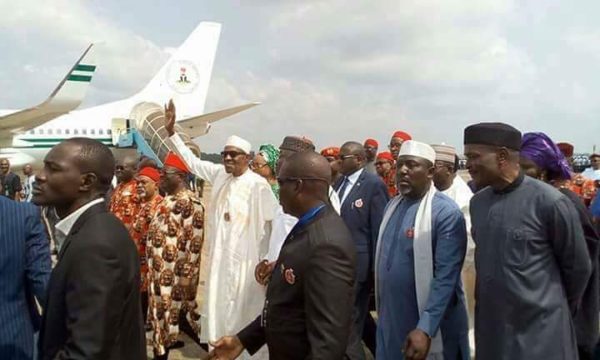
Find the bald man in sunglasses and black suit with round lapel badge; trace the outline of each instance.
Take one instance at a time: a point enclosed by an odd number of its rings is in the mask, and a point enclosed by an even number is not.
[[[237,336],[211,345],[211,359],[254,354],[271,360],[344,359],[352,327],[356,251],[344,221],[326,204],[331,168],[315,152],[283,162],[277,179],[283,210],[300,220],[286,238],[262,314]]]

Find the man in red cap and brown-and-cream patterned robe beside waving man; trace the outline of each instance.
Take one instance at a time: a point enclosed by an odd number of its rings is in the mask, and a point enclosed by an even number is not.
[[[150,336],[155,359],[167,359],[177,341],[180,313],[197,333],[200,314],[196,290],[204,242],[204,207],[188,188],[190,171],[169,153],[161,171],[166,196],[148,230]]]

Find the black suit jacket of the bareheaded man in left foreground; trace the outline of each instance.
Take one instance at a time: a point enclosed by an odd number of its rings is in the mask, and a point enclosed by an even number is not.
[[[146,359],[140,265],[125,226],[100,203],[77,219],[50,278],[42,359]]]

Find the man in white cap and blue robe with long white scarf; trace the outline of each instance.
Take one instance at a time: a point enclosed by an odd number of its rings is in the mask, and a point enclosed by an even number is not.
[[[460,274],[467,247],[458,205],[433,183],[435,151],[402,145],[398,190],[377,244],[377,359],[467,360],[468,324]]]

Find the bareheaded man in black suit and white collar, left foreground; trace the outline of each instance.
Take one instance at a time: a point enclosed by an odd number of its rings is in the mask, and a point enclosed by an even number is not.
[[[114,168],[108,147],[72,138],[50,150],[36,176],[33,202],[61,219],[41,359],[146,359],[137,251],[103,199]]]

